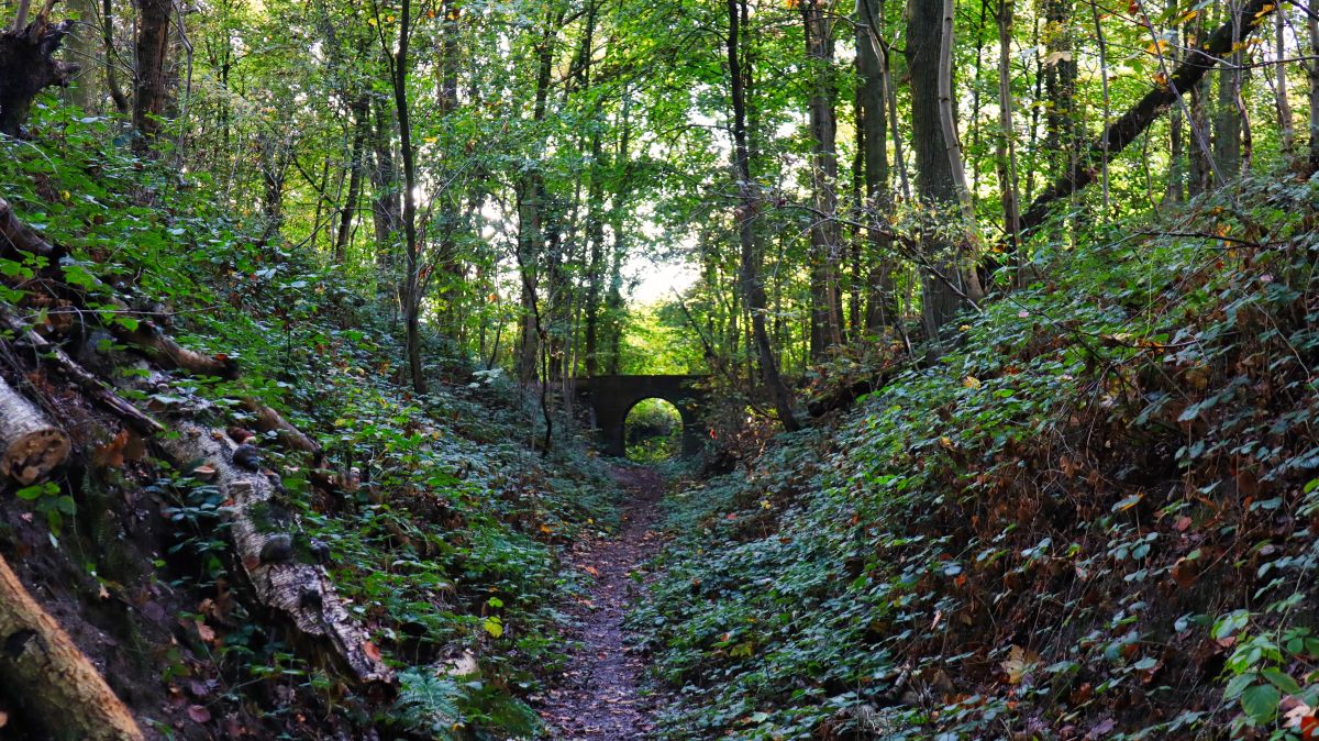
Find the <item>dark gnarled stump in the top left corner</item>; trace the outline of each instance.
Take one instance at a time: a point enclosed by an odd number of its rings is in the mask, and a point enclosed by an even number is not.
[[[0,133],[18,136],[32,102],[47,87],[65,87],[80,69],[55,59],[55,51],[74,28],[74,21],[50,22],[54,0],[26,26],[0,32]],[[26,7],[26,3],[22,4]]]

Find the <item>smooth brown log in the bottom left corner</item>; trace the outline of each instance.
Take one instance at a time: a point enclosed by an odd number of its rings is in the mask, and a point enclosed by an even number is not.
[[[0,556],[0,686],[61,741],[141,741],[128,708],[109,690]]]

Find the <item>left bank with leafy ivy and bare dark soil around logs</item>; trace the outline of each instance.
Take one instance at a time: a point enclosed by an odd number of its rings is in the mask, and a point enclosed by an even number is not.
[[[94,311],[53,297],[40,261],[8,254],[0,306],[88,364],[131,356],[99,327],[138,316],[235,359],[236,381],[175,372],[135,401],[161,414],[208,403],[215,425],[251,427],[241,400],[256,397],[323,446],[330,490],[274,435],[259,447],[286,489],[298,558],[324,563],[400,670],[397,696],[351,687],[252,609],[220,492],[157,460],[9,335],[0,373],[47,400],[75,456],[49,484],[0,490],[0,555],[153,738],[533,736],[524,700],[563,659],[555,605],[578,583],[561,546],[612,526],[613,480],[571,439],[550,458],[529,450],[538,410],[438,340],[431,392],[406,390],[371,276],[311,266],[270,224],[219,210],[226,183],[137,160],[111,144],[112,125],[54,108],[34,123],[40,144],[0,142],[7,200],[73,248],[59,276],[87,287]],[[135,312],[98,301],[107,290]],[[0,737],[41,738],[21,707],[0,688]]]

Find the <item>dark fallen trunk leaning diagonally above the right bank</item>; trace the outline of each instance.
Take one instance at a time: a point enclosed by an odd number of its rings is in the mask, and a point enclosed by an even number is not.
[[[1182,94],[1195,87],[1269,13],[1273,13],[1278,4],[1278,0],[1249,0],[1241,9],[1240,22],[1228,20],[1203,45],[1188,49],[1186,61],[1182,62],[1167,82],[1145,94],[1145,98],[1128,109],[1121,119],[1109,124],[1099,138],[1086,148],[1086,152],[1076,160],[1071,170],[1064,173],[1035,198],[1034,203],[1030,204],[1030,210],[1021,218],[1022,232],[1031,232],[1043,224],[1049,218],[1050,207],[1055,202],[1068,198],[1071,194],[1095,182],[1095,177],[1107,161],[1136,141],[1169,105],[1175,103]]]

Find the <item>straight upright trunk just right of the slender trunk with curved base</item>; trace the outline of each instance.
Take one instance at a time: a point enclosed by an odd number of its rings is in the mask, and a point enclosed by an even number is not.
[[[843,316],[839,306],[838,211],[838,121],[832,82],[834,22],[822,0],[806,0],[802,26],[806,58],[811,65],[813,88],[809,100],[811,133],[811,190],[815,215],[811,222],[811,359],[823,357],[843,344]]]

